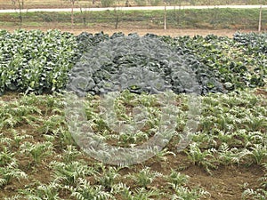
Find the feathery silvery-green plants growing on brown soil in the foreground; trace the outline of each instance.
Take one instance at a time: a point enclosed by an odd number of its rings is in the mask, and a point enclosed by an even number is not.
[[[0,198],[209,199],[211,188],[192,184],[196,177],[188,167],[195,165],[214,174],[222,172],[216,171],[219,167],[232,170],[246,165],[249,170],[263,165],[265,174],[259,185],[244,185],[242,190],[244,199],[265,199],[266,96],[255,92],[258,90],[202,96],[198,132],[183,153],[176,152],[179,137],[174,136],[149,161],[127,167],[101,164],[77,147],[66,125],[62,94],[4,95],[0,100]],[[97,96],[85,98],[85,115],[97,137],[110,145],[130,147],[148,140],[158,127],[161,111],[155,96],[125,91],[117,97],[115,108],[123,121],[131,121],[133,116],[127,113],[136,104],[149,110],[146,128],[140,132],[109,130]],[[188,117],[186,95],[177,94],[175,100],[179,134]],[[173,163],[178,154],[182,162]]]

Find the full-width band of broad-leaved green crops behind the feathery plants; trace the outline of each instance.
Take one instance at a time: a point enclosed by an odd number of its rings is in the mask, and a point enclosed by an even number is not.
[[[111,75],[116,79],[115,75],[120,76],[128,68],[152,71],[166,81],[165,87],[177,93],[186,90],[179,77],[181,71],[196,77],[201,93],[255,88],[265,84],[266,37],[266,34],[240,33],[233,38],[124,36],[122,33],[73,36],[59,30],[45,33],[1,30],[0,93],[61,91],[66,88],[74,67],[92,77],[92,83],[84,88],[91,93],[109,91],[104,88],[107,83],[99,79],[108,81]],[[132,83],[125,89],[151,92],[141,85]]]

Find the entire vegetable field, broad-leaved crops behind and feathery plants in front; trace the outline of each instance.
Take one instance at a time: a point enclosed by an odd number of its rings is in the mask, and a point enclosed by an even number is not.
[[[266,199],[266,39],[0,30],[0,199]],[[69,131],[66,90],[85,96],[95,137],[128,148],[153,137],[172,90],[175,134],[142,164],[101,163]],[[101,95],[114,91],[119,120],[147,110],[142,129],[109,127]],[[178,150],[190,93],[201,114]]]

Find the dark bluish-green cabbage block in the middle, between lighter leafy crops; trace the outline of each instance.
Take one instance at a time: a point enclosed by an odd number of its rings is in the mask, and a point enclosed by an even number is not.
[[[206,74],[199,76],[200,70]],[[113,35],[87,50],[71,71],[67,88],[92,94],[125,89],[157,93],[169,88],[175,93],[223,92],[223,85],[193,54],[181,53],[155,36],[136,34]]]

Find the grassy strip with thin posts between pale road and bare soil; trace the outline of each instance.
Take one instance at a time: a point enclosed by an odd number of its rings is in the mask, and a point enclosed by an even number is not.
[[[6,26],[72,26],[79,28],[267,28],[267,9],[182,9],[176,6],[172,10],[157,11],[119,11],[108,10],[92,12],[81,10],[74,12],[71,24],[70,12],[23,12],[0,15],[0,23]],[[165,20],[166,16],[166,20]],[[20,19],[21,17],[21,19]],[[260,23],[259,23],[259,19]]]

